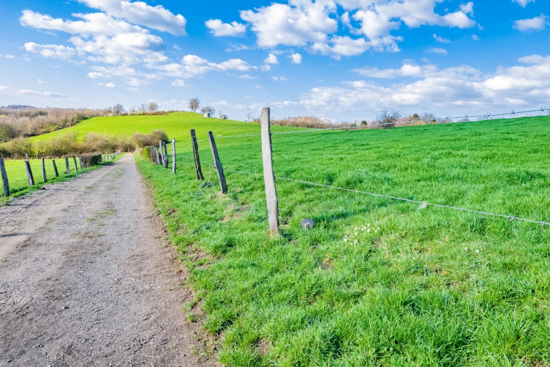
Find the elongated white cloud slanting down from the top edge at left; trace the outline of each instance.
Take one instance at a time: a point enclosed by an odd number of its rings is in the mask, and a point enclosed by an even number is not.
[[[181,14],[175,15],[160,5],[148,6],[143,1],[125,0],[79,0],[79,2],[114,17],[126,19],[130,23],[169,32],[175,36],[186,35],[186,19]]]

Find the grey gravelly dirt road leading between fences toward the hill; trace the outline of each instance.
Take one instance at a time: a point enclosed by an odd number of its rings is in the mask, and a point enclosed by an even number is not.
[[[131,154],[0,207],[0,366],[207,366]]]

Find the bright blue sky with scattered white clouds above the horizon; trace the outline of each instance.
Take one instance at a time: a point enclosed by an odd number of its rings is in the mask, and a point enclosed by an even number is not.
[[[543,0],[0,3],[0,105],[370,119],[550,106]]]

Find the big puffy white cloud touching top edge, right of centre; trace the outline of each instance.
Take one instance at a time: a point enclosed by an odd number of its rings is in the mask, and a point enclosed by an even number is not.
[[[259,47],[302,46],[338,59],[367,50],[399,51],[397,42],[403,39],[391,32],[403,23],[409,28],[422,25],[471,28],[476,25],[470,18],[474,14],[472,2],[462,4],[454,12],[438,14],[434,9],[441,1],[289,0],[288,4],[272,3],[255,10],[243,10],[240,15],[252,25]],[[340,16],[342,23],[352,34],[362,37],[353,39],[338,34],[339,6],[346,10]],[[360,27],[353,28],[351,19],[360,23]]]

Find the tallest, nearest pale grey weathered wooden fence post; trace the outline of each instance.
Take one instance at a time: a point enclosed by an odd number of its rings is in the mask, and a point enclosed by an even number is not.
[[[270,107],[262,108],[262,158],[263,180],[265,182],[265,199],[267,200],[267,215],[270,220],[272,235],[279,233],[279,206],[277,189],[275,186],[275,174],[273,172],[273,149],[270,129]]]

